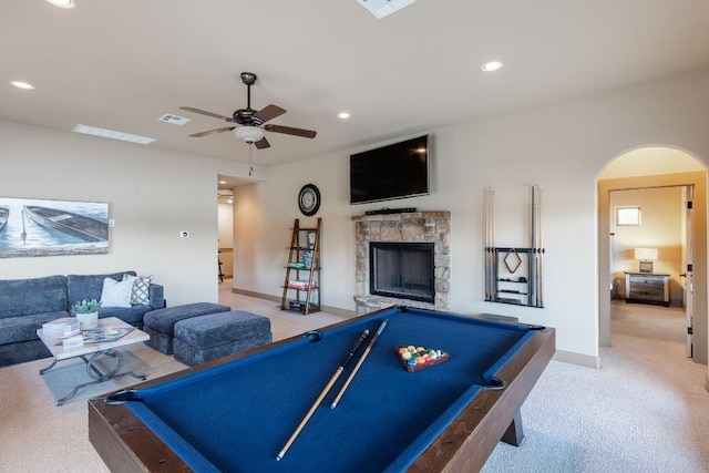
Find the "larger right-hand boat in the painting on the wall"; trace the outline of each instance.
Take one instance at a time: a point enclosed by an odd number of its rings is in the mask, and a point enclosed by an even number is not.
[[[54,228],[84,241],[109,239],[109,224],[58,208],[25,205],[24,215],[45,227]]]

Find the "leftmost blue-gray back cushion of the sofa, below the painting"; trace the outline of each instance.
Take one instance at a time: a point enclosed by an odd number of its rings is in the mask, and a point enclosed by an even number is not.
[[[66,310],[66,278],[0,280],[0,318]]]

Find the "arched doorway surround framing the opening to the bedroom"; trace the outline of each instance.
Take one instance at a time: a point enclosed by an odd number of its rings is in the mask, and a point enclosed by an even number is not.
[[[598,176],[598,342],[602,347],[612,345],[610,193],[669,186],[691,186],[695,192],[693,359],[707,363],[707,171],[691,154],[677,148],[648,146],[623,153]]]

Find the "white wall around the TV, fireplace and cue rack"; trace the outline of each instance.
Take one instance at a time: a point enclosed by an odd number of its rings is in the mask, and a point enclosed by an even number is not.
[[[667,145],[709,160],[709,70],[605,94],[432,131],[430,196],[350,206],[348,150],[268,169],[266,183],[239,189],[235,222],[244,270],[237,289],[279,296],[285,247],[304,184],[320,188],[323,305],[353,310],[353,215],[388,207],[450,210],[452,309],[520,317],[557,329],[557,348],[597,363],[597,189],[602,168],[636,147]],[[405,138],[402,136],[401,138]],[[381,143],[386,144],[386,143]],[[483,188],[496,188],[497,243],[527,243],[528,184],[543,187],[544,309],[485,302]],[[253,219],[253,220],[250,220]],[[514,241],[521,240],[521,244]],[[251,266],[256,265],[256,266]],[[237,269],[237,273],[242,269]],[[607,294],[607,291],[606,291]],[[706,327],[706,325],[705,325]]]

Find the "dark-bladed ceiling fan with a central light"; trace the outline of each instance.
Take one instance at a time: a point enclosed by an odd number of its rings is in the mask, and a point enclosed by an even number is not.
[[[264,150],[270,147],[266,140],[265,132],[284,133],[287,135],[302,136],[314,138],[317,132],[304,128],[294,128],[291,126],[266,124],[277,116],[286,113],[284,109],[277,105],[266,105],[261,110],[251,109],[251,85],[256,83],[256,74],[253,72],[242,72],[242,82],[246,84],[246,109],[239,109],[232,116],[219,115],[218,113],[205,112],[204,110],[194,109],[192,106],[181,106],[179,109],[188,112],[201,113],[203,115],[213,116],[234,123],[234,126],[224,126],[222,128],[209,130],[207,132],[195,133],[192,137],[202,137],[213,135],[215,133],[234,131],[234,135],[243,142],[254,144],[257,148]]]

